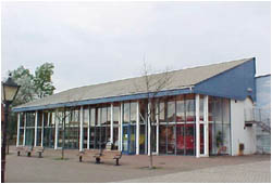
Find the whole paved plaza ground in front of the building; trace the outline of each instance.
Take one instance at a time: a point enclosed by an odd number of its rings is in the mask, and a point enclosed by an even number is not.
[[[149,170],[148,156],[123,156],[121,166],[114,160],[96,165],[95,160],[78,161],[78,150],[46,149],[44,158],[17,157],[15,148],[7,157],[7,182],[271,182],[270,155],[220,156],[153,156],[157,169]]]

